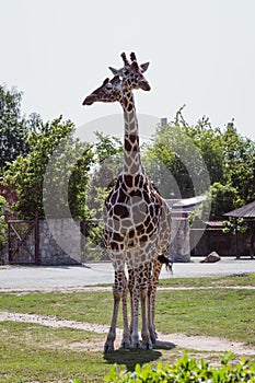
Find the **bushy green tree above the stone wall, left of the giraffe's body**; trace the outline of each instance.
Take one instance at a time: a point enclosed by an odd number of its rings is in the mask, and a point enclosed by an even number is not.
[[[74,126],[61,117],[45,124],[28,138],[31,151],[19,155],[4,173],[4,183],[18,193],[13,207],[19,217],[45,217],[45,206],[51,217],[83,218],[85,187],[93,161],[91,144],[73,139]]]

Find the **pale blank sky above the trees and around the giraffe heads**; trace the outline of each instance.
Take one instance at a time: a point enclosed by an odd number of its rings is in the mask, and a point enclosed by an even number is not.
[[[150,61],[151,91],[135,95],[137,112],[151,116],[146,134],[186,104],[187,123],[234,118],[255,139],[254,0],[0,0],[0,83],[23,92],[26,115],[62,114],[86,124],[85,139],[96,119],[104,131],[119,105],[82,101],[112,76],[108,66],[121,67],[121,51],[135,51]]]

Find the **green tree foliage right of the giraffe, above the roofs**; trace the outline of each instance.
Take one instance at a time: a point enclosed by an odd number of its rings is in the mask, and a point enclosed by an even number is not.
[[[202,117],[190,126],[182,111],[174,121],[159,126],[144,147],[146,169],[165,198],[209,193],[204,208],[211,211],[210,219],[222,219],[255,199],[255,142],[240,136],[233,121],[220,129]]]

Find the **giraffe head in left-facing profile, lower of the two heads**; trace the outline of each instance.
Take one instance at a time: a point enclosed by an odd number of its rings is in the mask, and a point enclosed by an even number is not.
[[[85,97],[82,105],[92,105],[95,102],[121,102],[121,81],[118,76],[112,80],[105,79],[103,84]]]

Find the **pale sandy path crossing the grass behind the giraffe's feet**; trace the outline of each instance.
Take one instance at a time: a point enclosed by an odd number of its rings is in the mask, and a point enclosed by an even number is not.
[[[0,312],[0,322],[12,321],[12,322],[25,322],[35,323],[48,327],[68,327],[78,328],[97,334],[107,334],[108,326],[100,325],[95,323],[83,323],[68,320],[60,320],[55,316],[35,315],[35,314],[20,314],[20,313],[8,313]],[[205,337],[205,336],[186,336],[184,334],[161,334],[159,333],[159,346],[169,346],[169,348],[178,347],[185,349],[194,349],[198,351],[232,351],[235,355],[255,356],[255,349],[251,349],[242,343],[229,341],[218,337]],[[117,329],[116,348],[120,346],[121,329]],[[88,344],[80,343],[79,347],[88,349]],[[103,345],[93,346],[93,350],[102,350]]]

